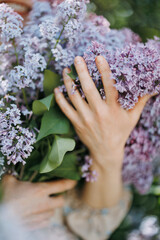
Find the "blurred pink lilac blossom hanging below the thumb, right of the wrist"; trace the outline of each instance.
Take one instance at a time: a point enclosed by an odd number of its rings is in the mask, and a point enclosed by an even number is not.
[[[146,193],[153,180],[155,158],[160,155],[160,96],[146,104],[125,147],[123,180]]]

